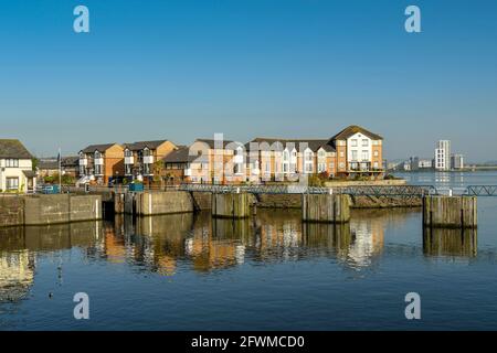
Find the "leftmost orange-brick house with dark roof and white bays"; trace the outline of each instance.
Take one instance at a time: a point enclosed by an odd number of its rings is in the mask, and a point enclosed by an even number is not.
[[[80,182],[107,185],[124,172],[124,148],[118,143],[91,145],[80,151]]]

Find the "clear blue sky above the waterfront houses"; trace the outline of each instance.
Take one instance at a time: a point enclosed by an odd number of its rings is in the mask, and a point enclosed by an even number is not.
[[[39,156],[224,132],[497,160],[497,1],[0,0],[0,137]],[[89,9],[91,33],[73,31]],[[422,11],[422,33],[404,10]]]

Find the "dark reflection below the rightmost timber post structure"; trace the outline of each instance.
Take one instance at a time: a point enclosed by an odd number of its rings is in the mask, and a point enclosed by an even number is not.
[[[423,253],[433,257],[476,257],[477,231],[424,227]]]

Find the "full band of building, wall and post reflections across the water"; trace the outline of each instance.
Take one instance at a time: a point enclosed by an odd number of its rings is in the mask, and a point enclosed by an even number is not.
[[[187,213],[2,228],[0,301],[18,300],[29,291],[41,254],[75,248],[89,260],[128,264],[163,276],[310,258],[330,258],[360,271],[381,259],[385,232],[393,231],[398,237],[410,217],[419,222],[420,215],[405,210],[357,210],[349,224],[334,225],[303,223],[299,211],[260,210],[255,217],[240,221]],[[476,231],[423,232],[425,256],[474,257],[476,250]]]

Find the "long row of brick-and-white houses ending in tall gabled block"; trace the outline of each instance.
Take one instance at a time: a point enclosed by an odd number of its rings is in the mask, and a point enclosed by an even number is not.
[[[327,139],[255,138],[241,145],[198,139],[165,158],[176,181],[241,183],[297,181],[303,174],[381,178],[383,138],[349,126]]]

